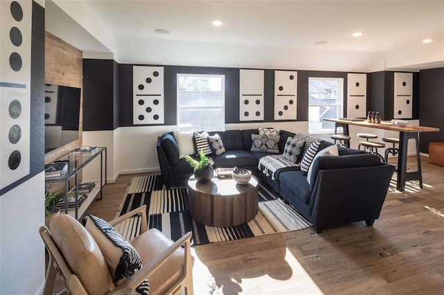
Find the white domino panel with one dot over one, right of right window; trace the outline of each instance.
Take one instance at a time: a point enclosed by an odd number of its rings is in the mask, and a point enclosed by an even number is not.
[[[347,74],[347,117],[367,116],[367,74]]]

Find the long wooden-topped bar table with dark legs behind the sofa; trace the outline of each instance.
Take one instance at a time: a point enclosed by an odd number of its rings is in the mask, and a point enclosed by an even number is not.
[[[398,127],[391,122],[382,122],[381,124],[368,123],[366,120],[355,121],[345,119],[323,119],[325,121],[334,122],[334,133],[336,134],[337,127],[343,127],[343,134],[350,135],[348,132],[348,125],[355,125],[361,127],[369,127],[375,129],[385,129],[400,132],[400,153],[398,155],[398,177],[396,179],[396,189],[403,191],[405,189],[405,182],[409,180],[419,180],[420,188],[422,188],[422,172],[421,172],[421,158],[419,154],[419,132],[438,132],[439,128],[407,125],[406,127]],[[409,139],[413,139],[416,143],[416,160],[418,161],[418,171],[407,172],[407,143]]]

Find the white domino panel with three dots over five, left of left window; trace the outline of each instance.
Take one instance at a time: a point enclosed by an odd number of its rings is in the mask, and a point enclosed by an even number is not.
[[[133,124],[163,123],[163,66],[133,66]]]

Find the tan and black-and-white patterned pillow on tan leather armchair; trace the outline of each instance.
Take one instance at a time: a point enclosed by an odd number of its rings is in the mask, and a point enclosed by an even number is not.
[[[142,268],[139,253],[108,222],[94,215],[87,216],[85,227],[99,245],[113,275],[113,282],[119,285],[119,280],[131,278]],[[148,289],[149,282],[146,278],[136,291],[139,294],[148,294]]]

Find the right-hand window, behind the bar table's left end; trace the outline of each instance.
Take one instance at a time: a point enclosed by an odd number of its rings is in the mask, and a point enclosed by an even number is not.
[[[334,123],[324,118],[341,118],[343,114],[343,79],[308,79],[308,131],[332,133]]]

